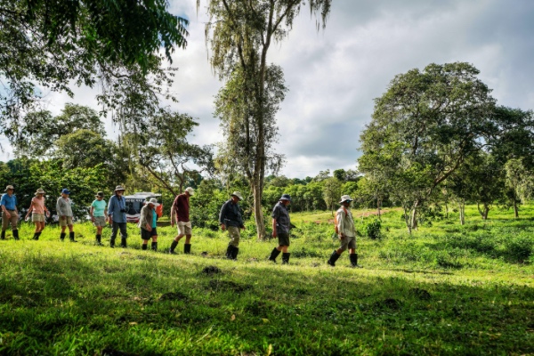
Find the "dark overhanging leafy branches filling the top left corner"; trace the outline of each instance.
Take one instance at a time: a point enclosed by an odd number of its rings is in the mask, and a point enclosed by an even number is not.
[[[172,73],[161,64],[174,46],[186,45],[188,22],[167,6],[166,0],[0,0],[0,129],[14,140],[44,90],[72,96],[73,83],[100,85],[104,111],[113,110],[123,124],[142,122],[160,95],[170,96],[162,85]]]

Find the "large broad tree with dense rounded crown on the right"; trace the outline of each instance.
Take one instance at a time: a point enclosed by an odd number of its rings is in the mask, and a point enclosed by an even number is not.
[[[396,76],[375,101],[372,121],[360,135],[359,169],[372,171],[371,155],[394,157],[392,172],[417,168],[421,191],[411,206],[411,227],[417,228],[417,208],[460,167],[465,158],[493,133],[495,100],[468,63],[430,64],[423,71]]]

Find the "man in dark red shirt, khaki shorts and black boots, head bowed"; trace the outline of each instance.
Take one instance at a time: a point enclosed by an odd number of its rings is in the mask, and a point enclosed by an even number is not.
[[[189,198],[195,194],[195,190],[191,187],[185,189],[185,191],[178,195],[174,199],[173,206],[171,207],[171,226],[174,227],[174,223],[178,226],[178,235],[174,238],[171,248],[169,248],[169,254],[176,254],[174,249],[178,246],[178,242],[185,236],[185,244],[183,245],[183,253],[190,254],[191,252],[191,222],[189,218]]]

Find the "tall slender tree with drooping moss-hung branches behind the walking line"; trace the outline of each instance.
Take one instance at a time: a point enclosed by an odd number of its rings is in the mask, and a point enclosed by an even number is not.
[[[211,65],[232,94],[235,106],[227,113],[224,125],[230,142],[241,141],[246,165],[245,174],[254,196],[255,224],[258,239],[265,238],[262,209],[263,181],[269,166],[276,168],[281,157],[270,151],[276,138],[275,114],[284,99],[282,70],[268,65],[267,53],[273,41],[281,42],[289,33],[304,0],[208,0],[206,43],[211,46]],[[324,27],[331,0],[310,0],[312,13],[320,14]],[[200,0],[197,2],[200,6]],[[217,101],[220,102],[220,99]],[[239,125],[231,125],[238,122]],[[228,125],[230,124],[230,125]],[[231,145],[231,148],[236,146]],[[233,150],[226,150],[230,154]],[[235,156],[234,156],[235,157]]]

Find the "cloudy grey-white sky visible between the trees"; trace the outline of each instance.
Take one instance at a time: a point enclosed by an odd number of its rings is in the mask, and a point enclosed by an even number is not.
[[[199,12],[196,0],[170,2],[171,12],[190,19],[188,47],[174,53],[179,71],[173,89],[180,101],[174,109],[198,117],[192,142],[220,142],[223,134],[212,113],[221,83],[207,61],[206,0]],[[289,88],[278,116],[278,151],[287,157],[283,174],[354,168],[373,99],[396,74],[432,62],[470,62],[499,104],[534,109],[533,0],[332,3],[327,28],[318,32],[304,8],[290,36],[271,47],[269,61],[284,69]],[[69,101],[96,108],[89,89],[75,92],[74,99],[49,93],[49,109],[59,112]],[[116,136],[117,127],[106,125],[109,136]]]

